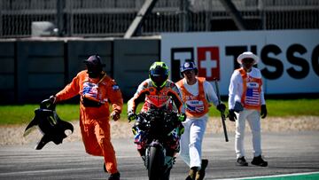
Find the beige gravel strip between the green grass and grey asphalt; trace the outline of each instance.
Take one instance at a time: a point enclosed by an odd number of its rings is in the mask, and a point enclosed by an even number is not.
[[[79,121],[72,121],[74,133],[66,137],[64,141],[82,141]],[[246,123],[248,124],[248,123]],[[131,127],[133,122],[111,121],[112,138],[133,137]],[[235,131],[235,122],[226,121],[229,132]],[[36,143],[42,137],[38,129],[33,130],[27,137],[23,137],[24,129],[27,125],[5,125],[0,126],[0,145],[25,145]],[[248,126],[248,125],[246,125]],[[262,132],[281,132],[281,131],[305,131],[319,130],[319,117],[317,116],[300,116],[275,118],[268,117],[261,119]],[[247,127],[246,131],[250,131]],[[207,123],[206,133],[222,133],[222,121],[220,118],[210,118]]]

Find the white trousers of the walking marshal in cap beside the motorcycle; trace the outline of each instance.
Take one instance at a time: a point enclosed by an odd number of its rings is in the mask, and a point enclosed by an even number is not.
[[[184,133],[181,137],[180,156],[190,167],[201,167],[202,142],[206,130],[208,116],[200,119],[183,121]]]

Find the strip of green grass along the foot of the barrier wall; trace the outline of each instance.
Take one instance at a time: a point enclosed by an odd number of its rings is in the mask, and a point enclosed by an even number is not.
[[[224,102],[227,105],[227,102]],[[317,99],[268,99],[266,100],[268,116],[319,116],[319,98]],[[38,105],[0,106],[0,125],[28,123],[35,115]],[[141,105],[138,106],[139,108]],[[58,105],[57,113],[62,120],[72,121],[79,119],[79,105]],[[219,112],[214,107],[210,108],[210,116],[218,117]],[[123,106],[121,120],[127,120],[127,104]]]

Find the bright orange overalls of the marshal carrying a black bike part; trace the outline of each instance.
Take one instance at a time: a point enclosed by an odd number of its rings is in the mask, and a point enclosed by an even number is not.
[[[101,77],[89,78],[87,70],[83,70],[56,94],[56,102],[78,94],[81,96],[80,127],[85,150],[91,155],[104,156],[107,172],[116,173],[118,169],[111,143],[109,105],[112,104],[113,112],[121,113],[121,90],[105,73]]]

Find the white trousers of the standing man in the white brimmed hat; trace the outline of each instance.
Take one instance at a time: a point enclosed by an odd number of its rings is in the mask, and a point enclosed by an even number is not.
[[[245,121],[248,121],[253,134],[253,156],[261,155],[261,115],[256,110],[247,110],[237,113],[235,152],[236,157],[245,156],[244,137]]]

